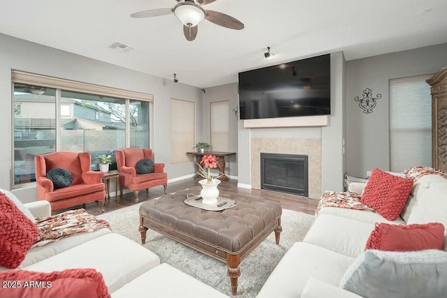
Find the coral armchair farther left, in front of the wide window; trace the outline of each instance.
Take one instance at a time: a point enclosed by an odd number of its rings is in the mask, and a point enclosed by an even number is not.
[[[104,211],[104,174],[90,170],[90,159],[89,152],[58,151],[36,155],[37,200],[50,202],[52,211],[100,200],[101,211]],[[71,172],[73,182],[70,186],[54,188],[52,180],[46,178],[47,172],[54,167]]]

